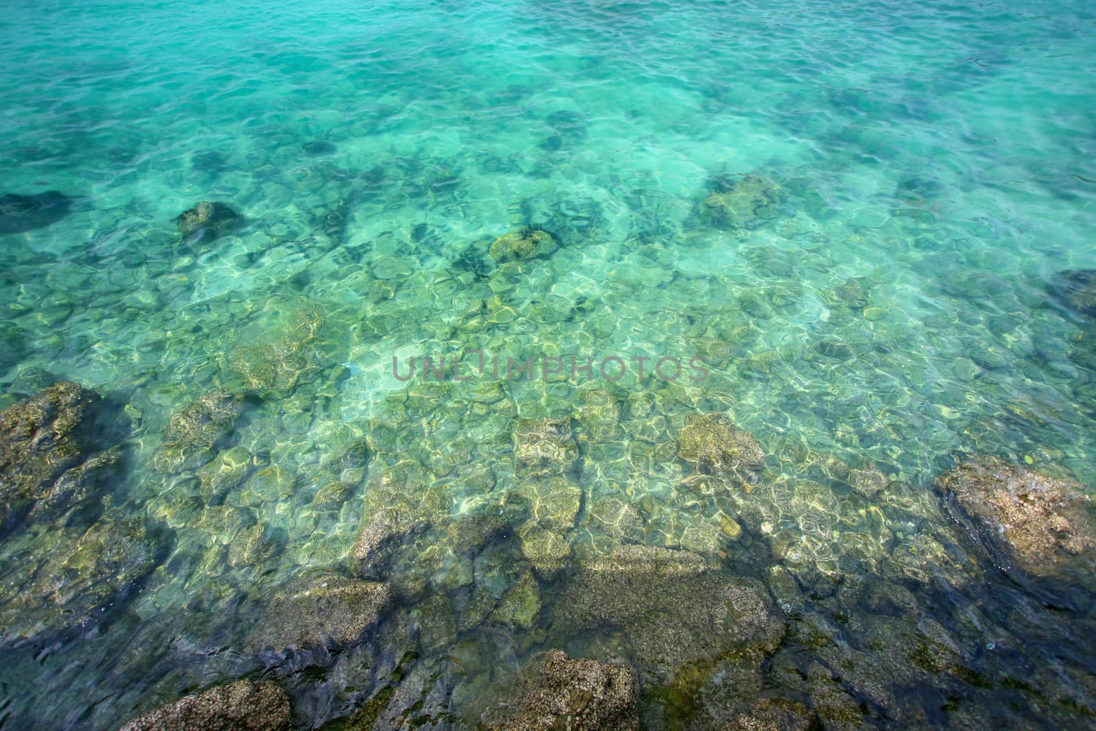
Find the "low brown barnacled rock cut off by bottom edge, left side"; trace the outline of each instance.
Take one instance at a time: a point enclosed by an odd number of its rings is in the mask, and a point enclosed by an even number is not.
[[[121,731],[288,731],[289,696],[271,682],[237,681],[129,721]]]

